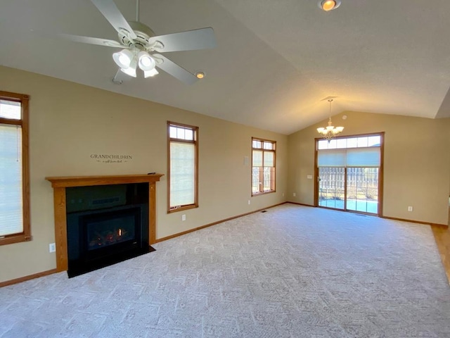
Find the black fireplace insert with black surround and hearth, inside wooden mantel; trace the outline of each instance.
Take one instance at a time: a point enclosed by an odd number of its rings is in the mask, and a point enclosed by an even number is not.
[[[69,277],[153,251],[147,183],[70,187],[66,201]]]

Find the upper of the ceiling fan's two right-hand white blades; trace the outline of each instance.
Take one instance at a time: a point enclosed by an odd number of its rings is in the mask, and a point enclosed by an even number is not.
[[[216,46],[216,37],[212,27],[188,30],[186,32],[150,37],[148,42],[160,41],[164,46],[155,46],[155,51],[165,53],[168,51],[194,51],[195,49],[209,49]]]

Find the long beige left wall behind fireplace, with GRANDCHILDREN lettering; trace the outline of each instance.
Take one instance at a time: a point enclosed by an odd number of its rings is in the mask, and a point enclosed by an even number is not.
[[[167,214],[167,179],[157,183],[157,238],[285,201],[288,137],[129,96],[0,67],[0,88],[29,94],[32,242],[0,246],[0,282],[56,268],[53,190],[46,176],[167,173],[167,120],[199,130],[199,208]],[[274,194],[250,197],[251,137],[277,142]],[[101,163],[91,154],[131,155]],[[251,205],[248,205],[248,200]]]

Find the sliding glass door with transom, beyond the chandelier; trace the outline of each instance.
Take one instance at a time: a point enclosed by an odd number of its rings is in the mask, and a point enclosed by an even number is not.
[[[383,134],[317,140],[316,205],[380,212]]]

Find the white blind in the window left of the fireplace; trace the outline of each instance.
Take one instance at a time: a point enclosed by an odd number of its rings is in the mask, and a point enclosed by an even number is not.
[[[23,232],[22,128],[0,124],[0,236]]]

